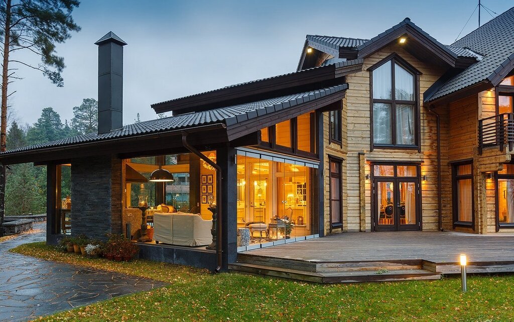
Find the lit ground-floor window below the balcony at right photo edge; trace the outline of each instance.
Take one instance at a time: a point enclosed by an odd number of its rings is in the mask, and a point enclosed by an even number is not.
[[[496,203],[498,226],[514,227],[514,165],[498,171]]]

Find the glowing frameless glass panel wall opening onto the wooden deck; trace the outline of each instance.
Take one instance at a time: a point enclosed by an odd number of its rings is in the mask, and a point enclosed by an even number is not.
[[[317,234],[317,178],[317,169],[305,164],[253,153],[237,155],[237,227],[250,234],[249,242],[240,238],[238,246]]]

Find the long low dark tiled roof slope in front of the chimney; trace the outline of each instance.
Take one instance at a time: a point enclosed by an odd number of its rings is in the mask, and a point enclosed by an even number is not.
[[[235,124],[237,122],[243,122],[254,117],[263,116],[287,108],[292,108],[292,106],[301,103],[309,102],[330,94],[334,94],[336,92],[344,91],[346,90],[346,88],[346,84],[341,84],[332,87],[321,88],[320,90],[302,92],[298,94],[265,99],[261,101],[226,106],[223,108],[213,109],[209,111],[181,114],[177,116],[170,116],[150,121],[143,121],[139,123],[128,124],[126,126],[123,126],[123,128],[119,130],[113,130],[109,133],[90,133],[78,135],[57,141],[9,150],[7,152],[0,153],[0,156],[16,152],[73,146],[77,144],[84,144],[96,141],[105,141],[125,137],[140,136],[145,134],[169,132],[174,130],[191,129],[216,123],[231,126],[232,124]]]

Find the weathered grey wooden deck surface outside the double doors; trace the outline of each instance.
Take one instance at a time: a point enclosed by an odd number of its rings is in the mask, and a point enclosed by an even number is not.
[[[459,232],[346,232],[301,242],[254,249],[248,255],[304,261],[394,261],[423,259],[456,263],[514,261],[514,235],[476,235]]]

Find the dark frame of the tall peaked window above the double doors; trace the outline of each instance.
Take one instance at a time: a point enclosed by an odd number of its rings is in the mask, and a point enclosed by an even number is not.
[[[374,99],[373,98],[373,71],[378,67],[391,62],[391,99]],[[400,67],[405,69],[408,73],[413,76],[414,79],[414,100],[404,101],[396,100],[395,98],[395,71],[394,66],[398,64]],[[392,53],[388,57],[382,59],[378,63],[368,68],[370,76],[370,144],[371,151],[374,149],[403,149],[403,150],[417,150],[421,152],[421,107],[420,107],[420,95],[419,95],[419,76],[422,73],[409,64],[405,59],[401,58],[397,53]],[[386,103],[391,104],[391,142],[392,144],[375,144],[374,133],[373,133],[373,104],[374,103]],[[396,105],[397,104],[408,104],[414,105],[414,145],[398,145],[396,144]]]

